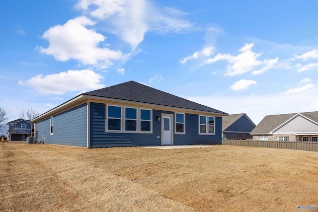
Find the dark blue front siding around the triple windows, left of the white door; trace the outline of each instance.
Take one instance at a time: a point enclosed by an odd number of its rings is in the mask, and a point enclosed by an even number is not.
[[[106,105],[91,102],[89,108],[90,147],[161,145],[161,122],[157,122],[156,116],[160,116],[162,111],[152,110],[152,134],[106,133]],[[164,111],[164,113],[171,112]],[[160,138],[157,139],[157,136],[160,136]]]

